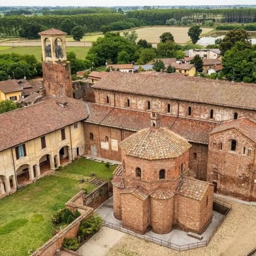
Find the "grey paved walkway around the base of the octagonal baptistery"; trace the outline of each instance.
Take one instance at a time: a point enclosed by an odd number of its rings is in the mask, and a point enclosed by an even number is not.
[[[103,220],[113,223],[117,226],[122,226],[122,221],[117,220],[114,217],[113,212],[114,212],[113,197],[109,198],[108,201],[106,201],[97,210],[95,210],[95,213],[98,213]],[[223,219],[222,214],[213,211],[212,222],[210,223],[209,227],[202,234],[202,236],[203,236],[202,242],[207,241],[207,239],[212,234],[212,231],[219,225],[219,223],[221,222],[222,219]],[[180,246],[201,242],[196,238],[189,237],[187,235],[187,232],[181,231],[178,229],[173,229],[170,233],[165,234],[165,235],[159,235],[159,234],[154,233],[153,231],[148,231],[146,233],[146,235],[154,237],[154,238],[162,239],[163,241],[166,241],[166,242],[169,242],[169,243],[172,243],[175,245],[180,245]]]

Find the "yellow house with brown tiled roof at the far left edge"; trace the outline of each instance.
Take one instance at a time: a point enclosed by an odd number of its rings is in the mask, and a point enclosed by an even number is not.
[[[12,100],[17,102],[21,98],[22,87],[12,79],[0,82],[0,101]]]

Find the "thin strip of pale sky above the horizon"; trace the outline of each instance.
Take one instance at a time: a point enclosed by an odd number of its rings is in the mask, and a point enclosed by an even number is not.
[[[92,4],[93,3],[93,4]],[[114,0],[94,0],[94,1],[81,1],[81,0],[1,0],[0,6],[132,6],[132,5],[231,5],[231,4],[256,4],[255,0],[182,0],[182,1],[170,1],[170,0],[129,0],[122,3],[122,1]]]

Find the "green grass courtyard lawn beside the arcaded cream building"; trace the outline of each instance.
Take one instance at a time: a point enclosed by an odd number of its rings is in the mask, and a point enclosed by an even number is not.
[[[54,175],[37,180],[0,200],[0,255],[27,256],[53,236],[51,215],[81,189],[94,186],[78,182],[91,172],[111,177],[115,166],[78,159]]]

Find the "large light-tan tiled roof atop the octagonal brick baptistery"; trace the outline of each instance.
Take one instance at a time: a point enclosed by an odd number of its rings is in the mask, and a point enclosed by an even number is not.
[[[176,158],[191,145],[180,135],[166,129],[143,129],[120,143],[123,153],[148,160]]]

